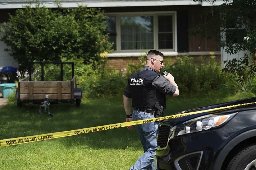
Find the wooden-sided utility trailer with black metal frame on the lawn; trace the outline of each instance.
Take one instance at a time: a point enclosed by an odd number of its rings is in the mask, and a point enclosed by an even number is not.
[[[41,64],[41,80],[31,81],[31,65]],[[61,81],[44,81],[44,65],[45,64],[60,64],[60,79]],[[72,65],[72,80],[63,80],[63,64]],[[16,91],[16,99],[18,106],[24,103],[42,103],[45,101],[45,96],[50,96],[50,103],[74,103],[80,106],[82,98],[82,89],[77,88],[76,77],[74,76],[73,62],[33,62],[30,63],[29,79],[24,78],[18,82]],[[29,80],[29,81],[28,81]]]

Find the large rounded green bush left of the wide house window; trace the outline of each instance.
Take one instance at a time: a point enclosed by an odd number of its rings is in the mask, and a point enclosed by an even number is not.
[[[29,61],[60,61],[61,57],[74,56],[92,63],[100,60],[100,53],[111,52],[104,18],[100,9],[85,6],[57,10],[40,4],[26,6],[4,24],[1,40],[23,67]]]

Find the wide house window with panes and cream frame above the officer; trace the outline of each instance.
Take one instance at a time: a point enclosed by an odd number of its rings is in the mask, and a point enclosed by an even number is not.
[[[176,51],[175,12],[107,13],[116,52]],[[112,32],[112,33],[111,33]]]

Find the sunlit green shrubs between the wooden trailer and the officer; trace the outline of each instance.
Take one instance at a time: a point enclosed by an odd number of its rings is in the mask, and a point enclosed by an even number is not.
[[[87,65],[83,63],[83,59],[62,59],[62,61],[75,63],[78,88],[83,89],[83,94],[87,98],[114,96],[122,93],[124,89],[126,83],[124,77],[119,71],[107,67],[105,60],[94,61]]]

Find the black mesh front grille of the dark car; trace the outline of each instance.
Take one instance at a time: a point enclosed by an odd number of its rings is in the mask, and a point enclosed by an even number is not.
[[[157,145],[160,148],[164,148],[167,146],[170,130],[171,130],[171,127],[168,125],[162,124],[158,127]]]

